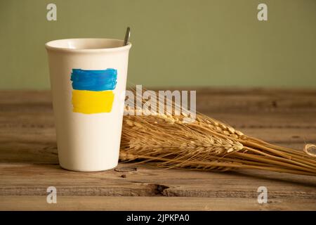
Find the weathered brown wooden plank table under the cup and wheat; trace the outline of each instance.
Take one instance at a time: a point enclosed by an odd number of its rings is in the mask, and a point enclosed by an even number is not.
[[[279,145],[316,143],[316,90],[198,89],[197,109]],[[48,186],[57,204],[46,203]],[[70,172],[58,165],[50,92],[0,91],[0,210],[316,210],[316,177],[133,163]]]

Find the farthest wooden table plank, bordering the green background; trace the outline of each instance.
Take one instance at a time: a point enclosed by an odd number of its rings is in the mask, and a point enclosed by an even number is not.
[[[192,87],[186,90],[197,90],[197,108],[204,113],[209,110],[218,113],[316,111],[315,90],[197,89]],[[0,91],[0,95],[0,104],[6,106],[4,110],[11,110],[11,106],[16,104],[38,108],[51,107],[47,104],[51,102],[49,91]]]

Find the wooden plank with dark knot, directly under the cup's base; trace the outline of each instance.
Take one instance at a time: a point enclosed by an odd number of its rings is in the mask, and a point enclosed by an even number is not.
[[[256,198],[265,186],[269,198],[295,195],[316,203],[316,177],[262,171],[183,172],[126,163],[105,172],[70,172],[59,165],[1,163],[0,177],[0,195],[46,195],[55,186],[59,195]]]

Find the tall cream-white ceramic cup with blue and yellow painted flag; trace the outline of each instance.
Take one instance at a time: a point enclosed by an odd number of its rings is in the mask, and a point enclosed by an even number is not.
[[[117,166],[131,49],[123,42],[62,39],[45,45],[64,169],[92,172]]]

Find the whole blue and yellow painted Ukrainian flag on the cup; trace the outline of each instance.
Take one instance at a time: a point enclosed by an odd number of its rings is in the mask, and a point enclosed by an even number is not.
[[[72,69],[72,111],[74,113],[110,113],[117,85],[117,70]]]

